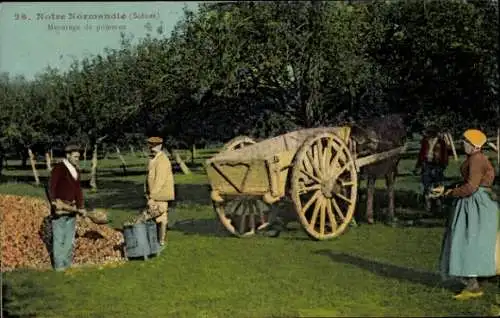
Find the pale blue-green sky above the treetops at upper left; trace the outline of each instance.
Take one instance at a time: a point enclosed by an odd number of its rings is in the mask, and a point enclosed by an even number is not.
[[[156,36],[155,29],[161,22],[166,30],[164,36],[169,36],[182,18],[184,6],[196,10],[199,3],[3,2],[0,72],[31,79],[49,65],[66,70],[73,58],[104,53],[106,47],[119,48],[121,31],[135,38],[144,37],[148,22],[153,27],[152,36]]]

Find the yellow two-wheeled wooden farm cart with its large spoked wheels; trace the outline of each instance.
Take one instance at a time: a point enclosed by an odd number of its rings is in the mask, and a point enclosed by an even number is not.
[[[334,238],[351,222],[359,168],[405,146],[356,157],[350,127],[293,131],[256,143],[240,136],[206,161],[211,199],[224,227],[250,236],[270,222],[269,207],[289,198],[307,234]]]

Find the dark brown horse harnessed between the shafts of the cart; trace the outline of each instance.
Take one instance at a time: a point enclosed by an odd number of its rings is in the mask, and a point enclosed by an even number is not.
[[[402,147],[406,143],[405,115],[391,114],[384,117],[351,124],[351,138],[356,144],[356,155],[367,156]],[[373,196],[375,181],[384,177],[389,198],[388,221],[394,224],[394,184],[401,154],[360,168],[360,175],[367,179],[366,221],[374,223]],[[361,178],[360,178],[361,179]]]

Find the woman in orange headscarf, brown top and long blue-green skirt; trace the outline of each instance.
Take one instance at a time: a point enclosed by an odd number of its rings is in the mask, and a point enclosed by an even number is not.
[[[466,285],[455,299],[482,296],[477,277],[496,275],[498,205],[490,196],[495,169],[481,151],[486,135],[469,129],[463,136],[467,159],[460,171],[464,183],[454,189],[441,189],[445,196],[455,199],[441,248],[441,274],[443,278],[461,278]]]

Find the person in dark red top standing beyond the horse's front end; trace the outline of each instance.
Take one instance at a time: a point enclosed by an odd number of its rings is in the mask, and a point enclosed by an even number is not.
[[[425,198],[425,210],[432,212],[432,202],[437,205],[438,211],[441,211],[441,198],[432,199],[430,192],[432,188],[443,184],[444,171],[448,166],[448,146],[446,141],[439,134],[436,126],[429,126],[425,136],[420,144],[420,153],[415,164],[414,174],[420,172],[423,185],[423,196]],[[418,171],[420,169],[420,171]]]

